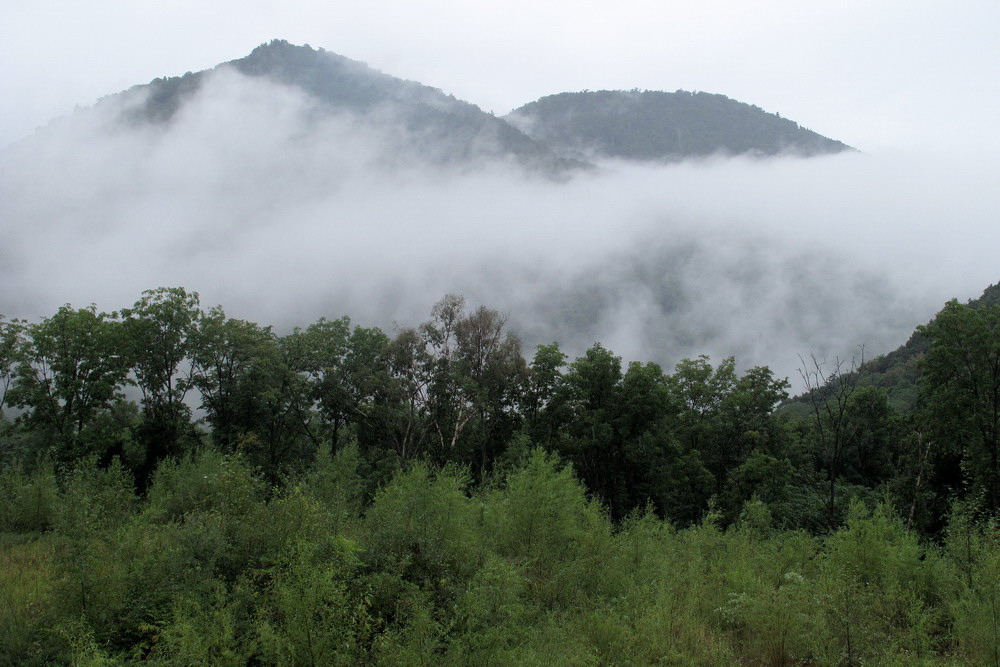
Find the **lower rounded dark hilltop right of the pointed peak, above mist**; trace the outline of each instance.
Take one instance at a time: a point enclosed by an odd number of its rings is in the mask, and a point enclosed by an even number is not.
[[[596,91],[543,97],[506,116],[564,154],[671,160],[714,153],[803,156],[850,150],[724,95]]]

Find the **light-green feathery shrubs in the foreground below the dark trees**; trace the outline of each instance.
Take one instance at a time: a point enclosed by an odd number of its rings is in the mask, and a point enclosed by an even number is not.
[[[353,444],[268,488],[246,459],[4,472],[10,664],[995,664],[1000,531],[940,545],[885,505],[818,537],[748,502],[728,528],[615,524],[541,450],[473,487]],[[27,531],[27,532],[25,532]],[[42,532],[44,531],[44,532]]]

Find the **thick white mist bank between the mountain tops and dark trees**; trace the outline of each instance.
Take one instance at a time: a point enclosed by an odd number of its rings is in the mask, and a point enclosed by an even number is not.
[[[122,126],[123,103],[0,158],[0,312],[112,310],[183,285],[280,330],[343,314],[391,328],[455,292],[508,313],[529,345],[793,375],[799,354],[885,352],[997,279],[997,169],[966,156],[608,163],[553,180],[503,161],[427,167],[391,110],[331,113],[234,72],[169,124]]]

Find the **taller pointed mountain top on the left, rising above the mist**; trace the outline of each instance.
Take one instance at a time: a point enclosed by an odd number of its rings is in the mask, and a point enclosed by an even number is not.
[[[371,122],[403,129],[409,135],[409,148],[431,161],[512,158],[546,170],[585,166],[556,155],[474,104],[323,49],[274,40],[215,69],[224,67],[297,87],[331,111],[352,112]],[[122,95],[126,98],[139,100],[131,106],[129,120],[169,121],[199,91],[210,71],[154,79],[125,91]]]

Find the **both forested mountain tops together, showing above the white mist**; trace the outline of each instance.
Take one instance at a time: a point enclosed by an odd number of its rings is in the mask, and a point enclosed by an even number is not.
[[[758,107],[707,93],[561,93],[501,119],[437,88],[284,40],[262,44],[211,70],[133,86],[100,103],[124,103],[122,117],[133,124],[169,123],[208,77],[226,70],[300,90],[326,112],[352,114],[402,132],[405,139],[396,150],[438,163],[502,159],[560,173],[585,168],[590,158],[812,156],[849,150]]]

